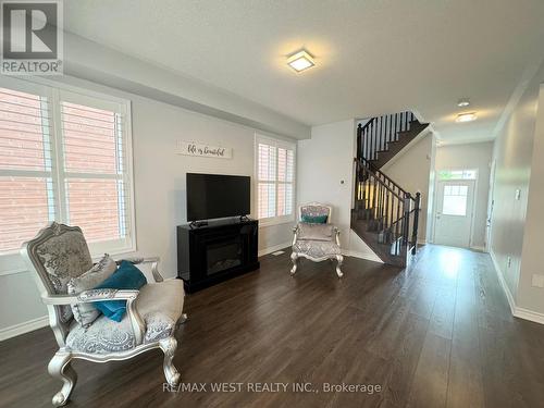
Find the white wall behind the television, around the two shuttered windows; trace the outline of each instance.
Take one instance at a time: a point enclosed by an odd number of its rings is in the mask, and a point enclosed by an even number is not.
[[[58,81],[132,100],[137,249],[160,256],[163,275],[175,276],[175,226],[186,222],[185,173],[254,177],[255,129],[75,78]],[[231,147],[233,158],[178,156],[178,139]],[[251,197],[255,209],[255,191]],[[259,250],[288,246],[290,238],[290,223],[262,227]],[[10,326],[46,314],[29,272],[0,274],[0,336]]]

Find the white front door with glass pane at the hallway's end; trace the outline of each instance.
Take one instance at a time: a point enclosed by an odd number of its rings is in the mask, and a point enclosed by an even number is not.
[[[474,181],[438,182],[434,243],[454,247],[470,246]]]

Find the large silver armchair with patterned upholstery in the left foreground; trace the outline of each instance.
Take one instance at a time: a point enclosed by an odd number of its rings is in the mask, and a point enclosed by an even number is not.
[[[177,347],[175,332],[185,321],[184,289],[180,280],[163,281],[158,258],[128,259],[134,264],[151,263],[156,283],[139,290],[90,289],[67,294],[67,282],[92,268],[87,243],[79,227],[51,223],[21,249],[42,290],[59,350],[49,362],[49,373],[63,381],[53,396],[54,406],[65,405],[77,381],[71,367],[73,359],[94,362],[126,360],[144,351],[160,348],[164,353],[163,369],[170,385],[180,383],[172,363]],[[100,316],[88,327],[75,321],[70,305],[95,301],[126,300],[126,316],[121,322]]]

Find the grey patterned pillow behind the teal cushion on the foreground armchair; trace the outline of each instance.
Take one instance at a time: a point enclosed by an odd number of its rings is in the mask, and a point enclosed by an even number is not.
[[[70,295],[77,295],[83,290],[92,289],[115,272],[115,261],[104,254],[103,258],[83,275],[72,277],[66,284]],[[74,319],[84,327],[88,327],[100,314],[92,304],[71,305]]]

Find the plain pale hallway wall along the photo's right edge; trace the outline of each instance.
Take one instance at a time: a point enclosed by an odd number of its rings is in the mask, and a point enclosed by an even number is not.
[[[510,100],[494,144],[494,209],[491,255],[514,314],[544,323],[544,288],[532,286],[544,274],[544,64]],[[516,191],[519,190],[519,199]],[[510,264],[508,262],[510,259]]]

